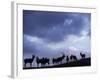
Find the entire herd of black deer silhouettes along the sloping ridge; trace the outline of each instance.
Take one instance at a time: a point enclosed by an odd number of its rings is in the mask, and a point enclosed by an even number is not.
[[[81,59],[84,59],[86,57],[86,55],[83,54],[82,52],[80,52],[80,56],[81,56]],[[24,67],[26,67],[26,64],[30,64],[30,67],[32,67],[32,63],[33,63],[35,58],[36,58],[37,67],[39,67],[39,65],[41,65],[41,67],[43,67],[45,65],[49,65],[50,60],[51,60],[52,64],[62,64],[62,61],[64,59],[66,59],[67,63],[70,61],[77,61],[78,60],[76,55],[65,56],[64,53],[62,53],[62,56],[52,58],[52,59],[49,59],[47,57],[39,58],[38,56],[32,55],[32,58],[24,59]]]

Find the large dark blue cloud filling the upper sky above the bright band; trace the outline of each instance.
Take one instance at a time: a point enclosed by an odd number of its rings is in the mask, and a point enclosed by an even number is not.
[[[23,32],[50,42],[58,42],[69,34],[80,35],[85,27],[84,18],[90,22],[89,13],[23,10]],[[69,25],[65,23],[66,20],[72,20],[72,23]]]

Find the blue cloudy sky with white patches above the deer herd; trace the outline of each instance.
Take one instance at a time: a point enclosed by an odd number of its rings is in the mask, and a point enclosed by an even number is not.
[[[90,55],[91,14],[23,10],[25,56]]]

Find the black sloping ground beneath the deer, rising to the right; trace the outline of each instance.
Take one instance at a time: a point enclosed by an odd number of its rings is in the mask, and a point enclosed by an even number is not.
[[[91,66],[91,58],[85,58],[78,61],[73,61],[69,63],[63,63],[59,65],[53,66],[45,66],[45,67],[26,67],[23,69],[41,69],[41,68],[59,68],[59,67],[80,67],[80,66]]]

